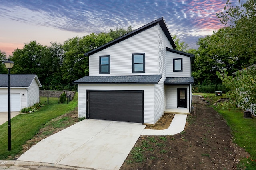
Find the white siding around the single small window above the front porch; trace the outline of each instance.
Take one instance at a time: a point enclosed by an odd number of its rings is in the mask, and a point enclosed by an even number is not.
[[[173,59],[182,58],[182,72],[173,71]],[[191,77],[190,57],[166,51],[166,76],[167,77]]]

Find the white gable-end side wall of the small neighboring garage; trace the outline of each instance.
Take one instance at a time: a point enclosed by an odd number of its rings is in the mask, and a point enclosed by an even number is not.
[[[28,88],[28,95],[26,95],[26,98],[28,100],[26,107],[30,107],[39,102],[39,86],[35,79],[32,81],[30,87]]]

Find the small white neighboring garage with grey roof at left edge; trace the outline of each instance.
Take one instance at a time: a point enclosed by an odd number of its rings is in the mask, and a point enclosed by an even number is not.
[[[39,87],[36,74],[11,74],[11,111],[20,111],[39,102]],[[0,74],[0,112],[8,111],[8,74]]]

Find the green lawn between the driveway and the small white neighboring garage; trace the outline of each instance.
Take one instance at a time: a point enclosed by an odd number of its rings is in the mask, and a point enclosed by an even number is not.
[[[32,139],[40,129],[53,118],[70,112],[77,107],[78,94],[69,104],[45,105],[39,111],[29,114],[19,114],[11,119],[12,150],[8,151],[8,123],[0,125],[0,160],[8,160],[9,156],[22,151],[22,145]]]

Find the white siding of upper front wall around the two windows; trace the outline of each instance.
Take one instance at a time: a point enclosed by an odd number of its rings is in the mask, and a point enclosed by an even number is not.
[[[132,54],[145,53],[145,73],[132,73]],[[110,74],[99,74],[99,56],[110,55]],[[89,56],[89,76],[158,74],[158,25]]]

